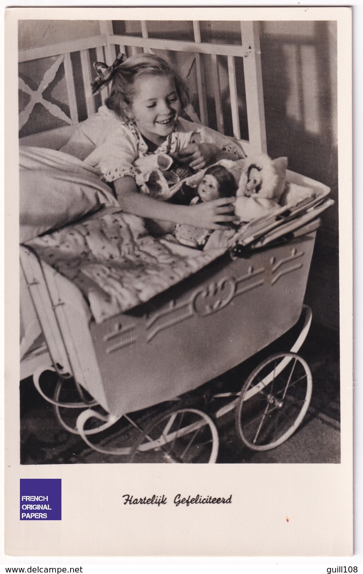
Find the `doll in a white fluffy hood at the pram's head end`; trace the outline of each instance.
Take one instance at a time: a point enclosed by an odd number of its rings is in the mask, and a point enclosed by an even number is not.
[[[284,172],[286,172],[287,160]],[[283,181],[280,181],[283,179]],[[263,217],[279,208],[284,176],[267,154],[248,158],[237,189],[236,215],[243,222]]]

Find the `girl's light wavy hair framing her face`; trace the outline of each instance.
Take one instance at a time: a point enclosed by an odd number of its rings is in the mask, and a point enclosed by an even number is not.
[[[120,118],[127,119],[124,108],[132,104],[135,95],[135,82],[141,76],[173,76],[181,107],[189,103],[189,91],[184,79],[166,59],[154,54],[136,54],[127,58],[116,68],[110,97],[106,106]]]

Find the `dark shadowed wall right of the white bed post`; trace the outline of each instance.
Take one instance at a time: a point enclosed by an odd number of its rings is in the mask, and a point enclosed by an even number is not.
[[[339,325],[337,67],[334,22],[261,24],[267,149],[289,168],[331,188],[306,302],[314,319]],[[294,33],[292,33],[292,31]]]

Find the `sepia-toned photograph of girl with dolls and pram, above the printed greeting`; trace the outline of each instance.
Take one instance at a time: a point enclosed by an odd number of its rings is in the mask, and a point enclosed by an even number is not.
[[[21,463],[339,463],[337,22],[18,26]]]

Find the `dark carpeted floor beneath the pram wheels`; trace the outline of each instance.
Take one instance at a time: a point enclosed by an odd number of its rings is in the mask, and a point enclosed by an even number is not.
[[[268,354],[286,350],[291,334],[279,339],[268,349]],[[296,432],[282,445],[268,451],[253,451],[247,448],[236,435],[234,411],[218,419],[219,450],[217,463],[339,463],[340,461],[340,400],[339,400],[339,338],[333,329],[318,324],[311,325],[309,335],[299,354],[309,363],[313,373],[313,394],[309,410]],[[213,389],[219,392],[240,389],[247,374],[251,373],[261,356],[236,367],[225,374],[223,380],[214,381]],[[45,375],[42,381],[45,390],[53,392],[54,379]],[[210,395],[210,383],[198,389],[192,397],[188,395],[188,405],[198,406]],[[65,391],[67,392],[67,390]],[[71,392],[71,391],[69,391]],[[68,397],[67,397],[68,398]],[[65,430],[54,416],[53,407],[37,393],[32,379],[25,379],[20,385],[21,400],[21,464],[75,464],[75,463],[127,463],[130,458],[96,452],[79,436]],[[151,418],[159,416],[168,405],[157,406],[136,414],[140,425],[149,425]],[[68,409],[69,412],[69,409]],[[69,425],[74,424],[79,410],[62,416]],[[67,418],[69,417],[69,418]],[[73,418],[73,420],[72,420]],[[132,429],[132,433],[138,431]],[[128,430],[127,430],[128,433]],[[127,439],[135,443],[130,431]],[[120,447],[119,439],[125,436],[124,423],[119,422],[97,435],[102,449],[115,452]],[[130,443],[130,444],[131,444]],[[105,447],[106,445],[106,447]],[[138,462],[135,457],[133,462]],[[143,459],[142,462],[155,461]]]

